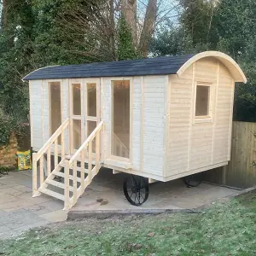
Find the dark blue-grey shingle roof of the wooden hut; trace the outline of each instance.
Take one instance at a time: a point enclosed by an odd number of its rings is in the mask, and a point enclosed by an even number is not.
[[[131,61],[43,67],[26,75],[24,80],[175,74],[192,56],[193,55],[176,55]]]

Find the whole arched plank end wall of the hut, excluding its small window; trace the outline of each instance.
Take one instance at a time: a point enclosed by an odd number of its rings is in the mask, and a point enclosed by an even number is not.
[[[178,78],[171,79],[171,105],[166,177],[229,160],[232,77],[217,59],[196,61]],[[195,84],[212,84],[212,121],[194,120]]]

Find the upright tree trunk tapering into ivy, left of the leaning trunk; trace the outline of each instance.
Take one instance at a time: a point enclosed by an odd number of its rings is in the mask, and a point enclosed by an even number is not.
[[[121,10],[131,28],[133,44],[137,47],[137,0],[121,0]]]

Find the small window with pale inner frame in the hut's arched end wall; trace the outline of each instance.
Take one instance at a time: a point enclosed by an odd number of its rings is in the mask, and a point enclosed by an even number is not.
[[[211,118],[212,84],[197,84],[195,95],[195,118]]]

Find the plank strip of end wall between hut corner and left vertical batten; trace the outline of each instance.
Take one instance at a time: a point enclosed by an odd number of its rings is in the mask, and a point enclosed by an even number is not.
[[[183,73],[182,79],[173,75],[170,76],[170,80],[171,99],[166,160],[167,177],[188,170],[193,67],[189,67]]]

